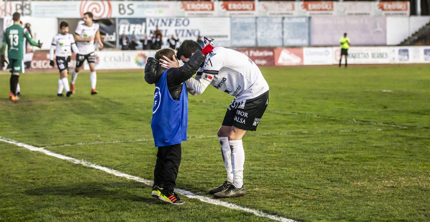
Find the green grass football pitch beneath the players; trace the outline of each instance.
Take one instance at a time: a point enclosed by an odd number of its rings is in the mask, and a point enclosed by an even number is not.
[[[247,194],[223,201],[302,222],[430,220],[429,66],[261,71],[269,106],[243,138]],[[154,85],[143,71],[97,74],[97,95],[80,73],[61,98],[58,74],[25,73],[17,102],[0,75],[0,137],[154,179]],[[232,99],[189,97],[178,188],[209,197],[225,180],[216,131]],[[270,221],[181,198],[0,141],[0,221]]]

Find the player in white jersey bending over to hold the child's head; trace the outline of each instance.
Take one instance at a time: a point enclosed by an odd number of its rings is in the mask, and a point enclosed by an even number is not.
[[[205,38],[206,43],[210,44],[210,40]],[[185,40],[177,48],[176,55],[183,62],[187,62],[196,50],[201,50],[197,42]],[[172,64],[172,61],[168,61],[167,66],[172,67]],[[251,59],[241,52],[224,47],[213,49],[213,52],[206,56],[196,79],[188,79],[186,84],[197,94],[203,93],[208,85],[213,85],[235,97],[218,130],[227,180],[209,193],[215,198],[245,195],[243,186],[245,152],[242,137],[246,131],[257,129],[269,103],[269,85]]]

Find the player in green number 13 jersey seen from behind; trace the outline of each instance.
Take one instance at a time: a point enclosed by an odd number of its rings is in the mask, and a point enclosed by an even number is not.
[[[7,46],[7,57],[9,58],[9,68],[12,75],[10,76],[10,91],[9,97],[11,100],[19,100],[16,95],[16,86],[18,85],[20,73],[25,73],[24,70],[24,38],[37,47],[42,47],[42,43],[36,43],[31,39],[30,32],[21,27],[19,19],[21,15],[18,12],[13,13],[13,25],[4,30],[3,47],[1,52],[1,63],[4,63],[4,54]]]

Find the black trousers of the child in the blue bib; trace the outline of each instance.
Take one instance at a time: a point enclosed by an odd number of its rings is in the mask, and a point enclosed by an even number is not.
[[[181,143],[159,146],[154,169],[154,186],[162,187],[164,192],[171,194],[176,186],[176,176],[180,164]]]

